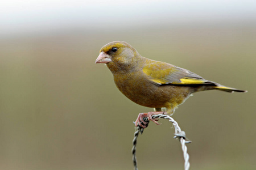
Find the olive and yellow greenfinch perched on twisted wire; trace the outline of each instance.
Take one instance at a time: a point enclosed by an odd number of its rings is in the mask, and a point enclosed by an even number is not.
[[[144,117],[160,125],[154,114],[170,114],[189,96],[205,90],[247,92],[204,79],[187,69],[170,63],[142,57],[125,41],[113,41],[100,49],[95,63],[105,63],[112,72],[119,91],[134,103],[154,108],[154,112],[139,113],[136,126],[146,128]],[[163,112],[163,109],[166,112]],[[142,124],[143,123],[143,124]]]

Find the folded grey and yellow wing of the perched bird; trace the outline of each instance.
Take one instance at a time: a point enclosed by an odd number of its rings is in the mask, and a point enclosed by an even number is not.
[[[151,61],[143,67],[143,73],[156,84],[213,84],[189,70],[165,62]]]

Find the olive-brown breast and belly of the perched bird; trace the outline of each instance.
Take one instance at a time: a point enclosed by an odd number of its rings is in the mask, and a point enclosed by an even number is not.
[[[177,95],[175,86],[159,86],[137,73],[115,74],[114,82],[130,100],[151,108],[176,107],[189,94],[184,88]]]

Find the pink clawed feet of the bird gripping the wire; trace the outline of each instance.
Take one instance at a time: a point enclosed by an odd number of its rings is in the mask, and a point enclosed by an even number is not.
[[[139,113],[137,120],[135,121],[135,126],[141,126],[142,128],[147,128],[148,122],[143,120],[144,117],[147,117],[148,121],[154,122],[156,125],[160,125],[158,123],[157,118],[152,118],[153,114],[162,114],[163,112],[148,112],[148,113]]]

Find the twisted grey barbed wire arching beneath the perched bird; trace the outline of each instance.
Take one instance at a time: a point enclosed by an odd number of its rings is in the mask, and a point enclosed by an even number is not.
[[[185,131],[182,131],[180,129],[180,126],[177,124],[177,122],[170,116],[168,116],[167,114],[155,114],[152,115],[152,118],[165,118],[168,119],[170,122],[172,122],[172,125],[174,125],[175,128],[175,136],[174,138],[179,139],[180,144],[181,144],[181,149],[183,150],[183,157],[184,157],[184,169],[188,170],[190,167],[190,163],[189,163],[189,155],[188,155],[188,148],[185,145],[186,143],[191,143],[191,141],[186,141],[186,137],[185,137]],[[147,117],[143,118],[143,121],[146,122],[146,126],[148,126],[149,121]],[[142,125],[143,122],[142,122]],[[133,148],[132,148],[132,153],[133,153],[133,164],[134,164],[134,170],[138,170],[138,165],[137,165],[137,158],[136,158],[136,145],[137,145],[137,138],[139,136],[139,133],[143,133],[144,128],[142,128],[141,126],[137,126],[137,129],[134,133],[134,139],[133,139]]]

